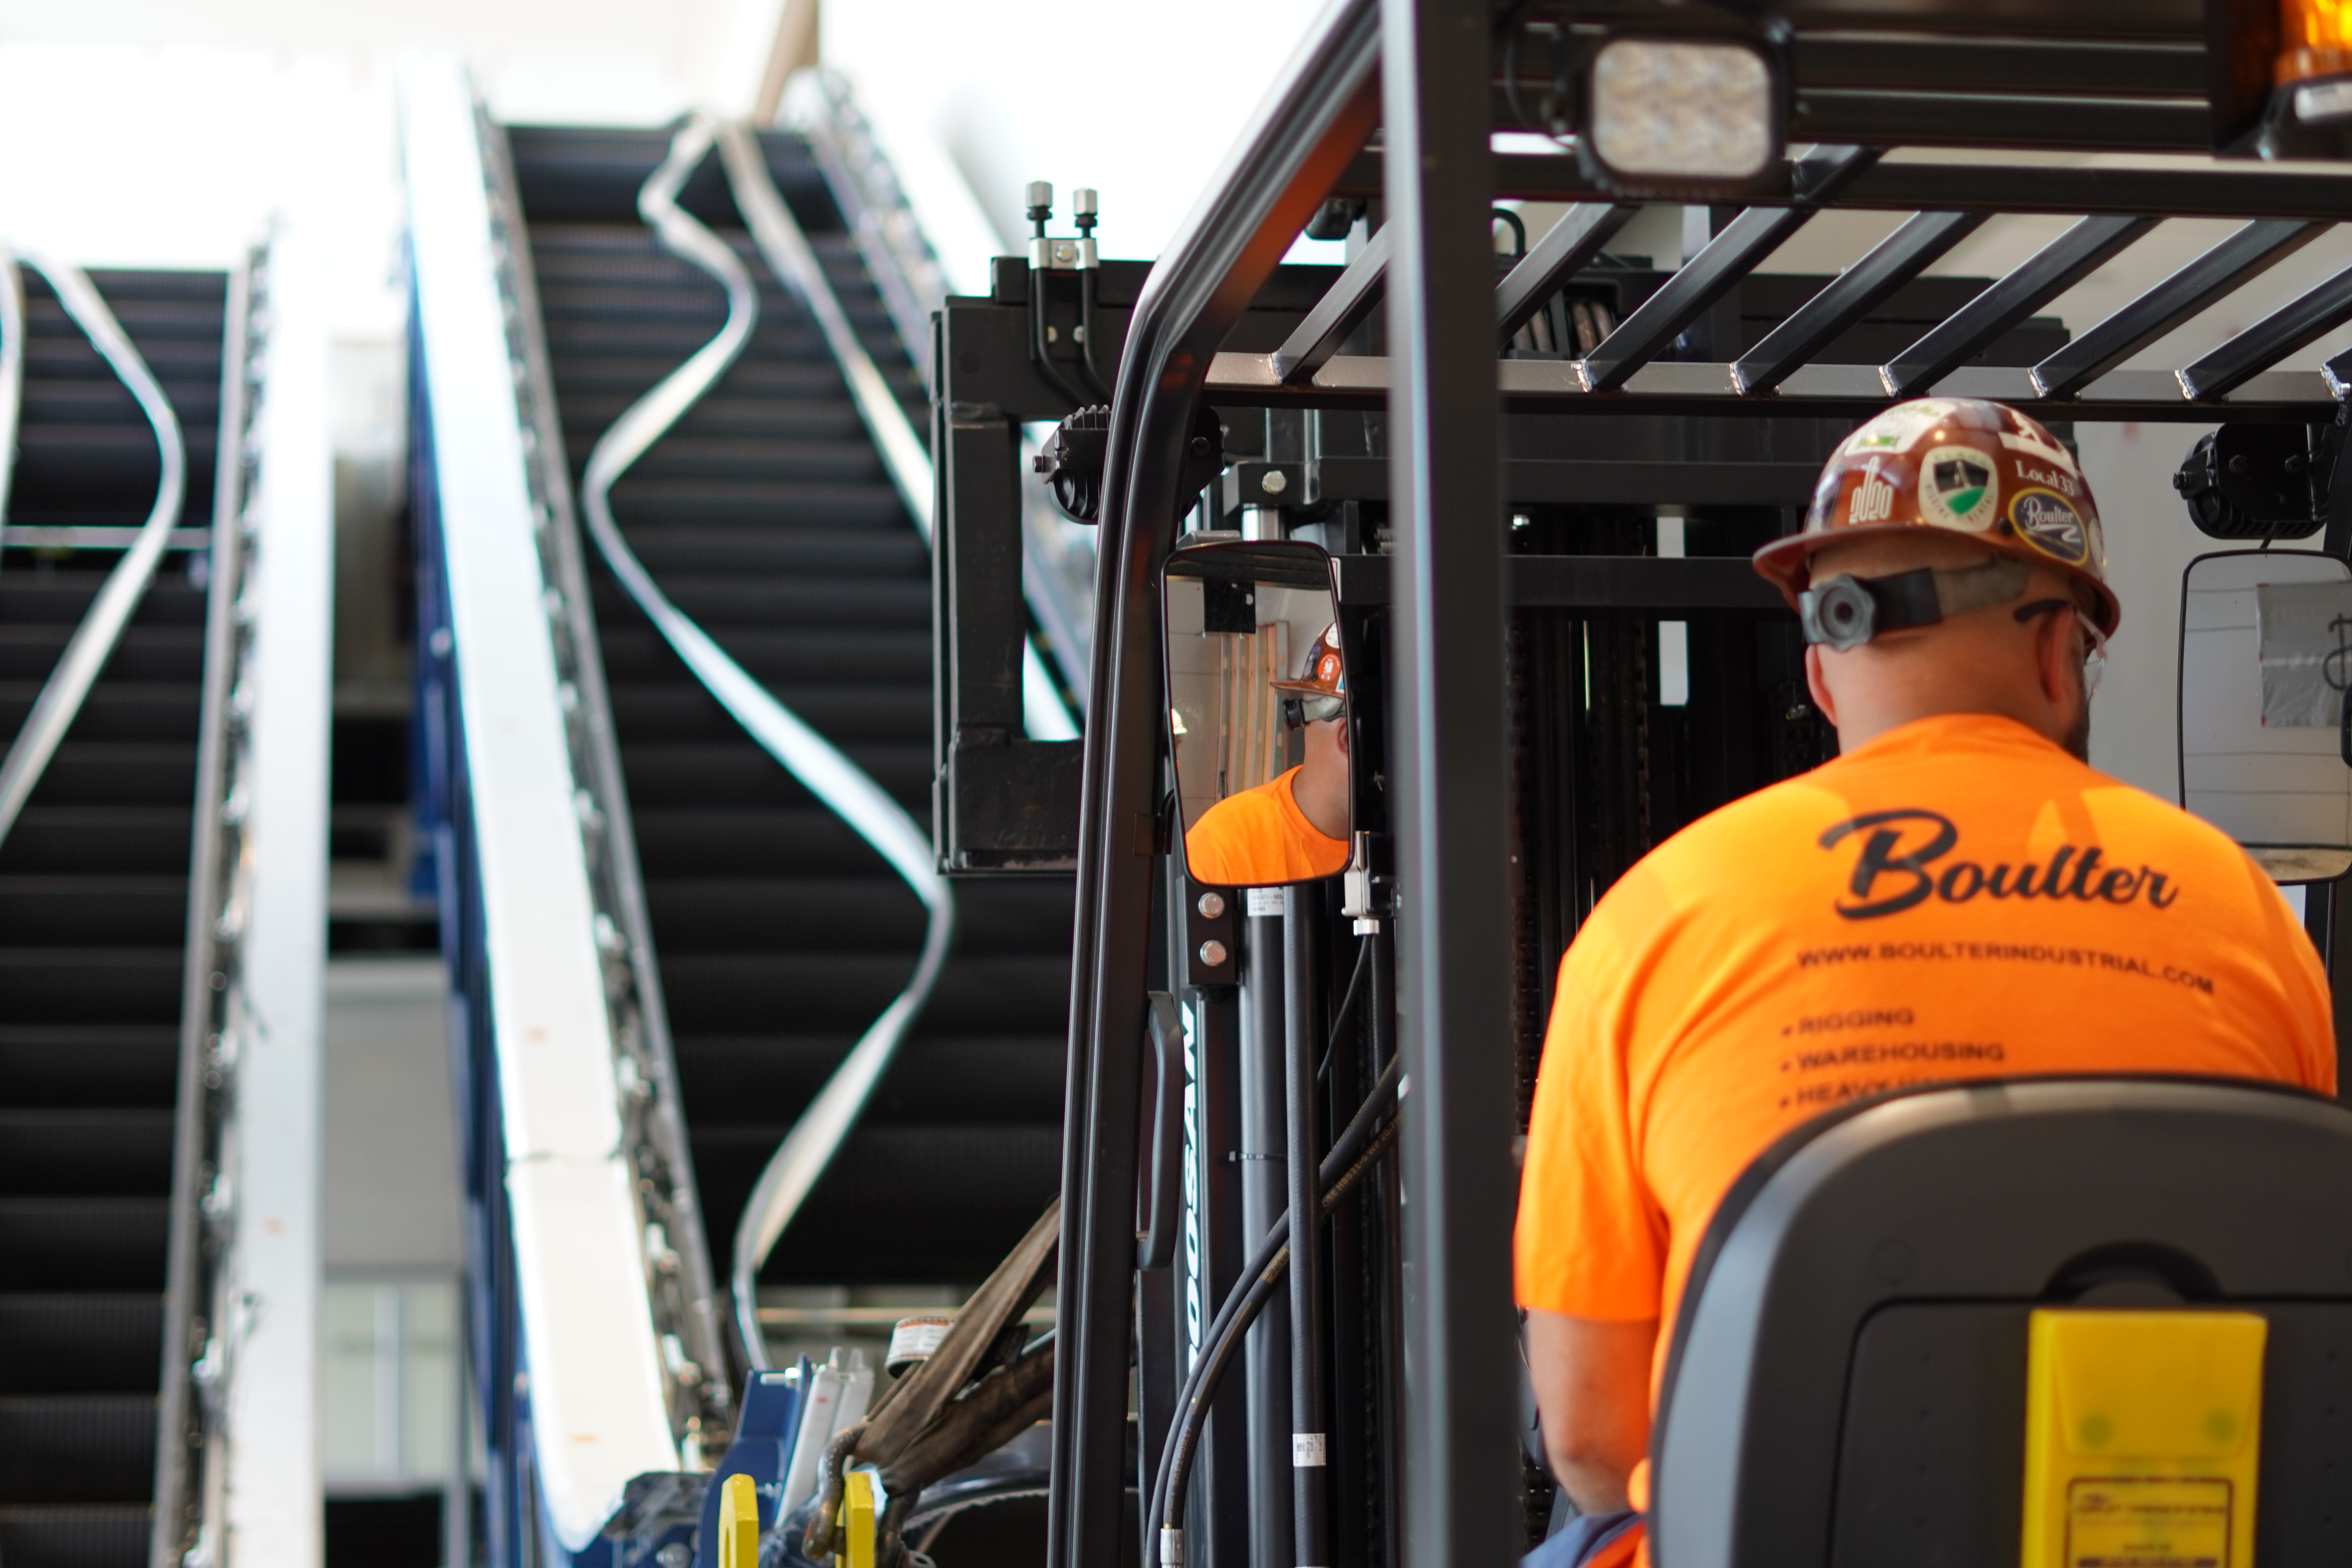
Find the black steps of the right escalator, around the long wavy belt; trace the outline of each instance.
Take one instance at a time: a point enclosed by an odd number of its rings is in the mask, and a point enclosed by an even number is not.
[[[922,383],[800,136],[769,172],[915,428]],[[595,440],[727,317],[637,193],[659,132],[515,129],[515,188],[574,482]],[[743,357],[614,489],[661,590],[917,823],[931,802],[929,552],[826,339],[767,273],[710,155],[682,207],[760,280]],[[755,745],[590,555],[602,675],[717,1274],[753,1182],[906,987],[924,907]],[[915,1032],[764,1286],[971,1286],[1058,1185],[1070,886],[962,884]],[[906,1298],[906,1293],[898,1293]]]

